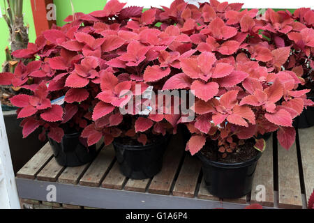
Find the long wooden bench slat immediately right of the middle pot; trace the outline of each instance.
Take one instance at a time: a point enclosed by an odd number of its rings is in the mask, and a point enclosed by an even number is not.
[[[149,193],[169,195],[174,176],[177,174],[184,152],[181,134],[172,137],[163,159],[163,169],[154,176],[149,186]]]

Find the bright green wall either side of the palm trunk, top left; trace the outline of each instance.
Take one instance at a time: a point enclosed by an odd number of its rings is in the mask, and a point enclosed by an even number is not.
[[[64,1],[64,0],[63,0]],[[0,1],[1,12],[3,13],[3,1]],[[34,42],[36,40],[35,27],[33,25],[33,13],[31,11],[31,0],[24,0],[23,3],[23,12],[24,12],[24,24],[29,25],[29,40]],[[3,17],[0,18],[0,64],[6,60],[6,54],[4,49],[9,45],[9,31],[6,21]],[[2,70],[2,69],[1,69]]]

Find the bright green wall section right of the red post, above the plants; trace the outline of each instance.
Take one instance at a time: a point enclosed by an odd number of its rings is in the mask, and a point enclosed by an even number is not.
[[[107,3],[106,0],[72,0],[75,13],[91,13],[95,10],[102,10]],[[57,25],[65,24],[63,20],[72,15],[70,0],[54,0],[57,6]]]

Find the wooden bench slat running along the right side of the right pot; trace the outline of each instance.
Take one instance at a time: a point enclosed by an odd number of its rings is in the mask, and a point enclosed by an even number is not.
[[[256,195],[260,192],[257,186],[265,188],[264,201],[258,202]],[[260,195],[260,194],[258,194]],[[253,180],[251,203],[260,203],[262,206],[274,207],[274,170],[273,170],[273,138],[271,137],[266,144],[266,149],[257,162],[255,176]]]

